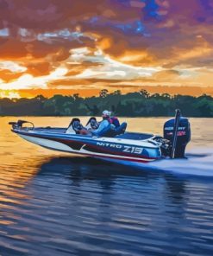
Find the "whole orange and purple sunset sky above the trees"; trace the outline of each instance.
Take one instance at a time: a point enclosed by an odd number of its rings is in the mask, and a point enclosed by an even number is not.
[[[0,97],[213,95],[212,0],[0,0]]]

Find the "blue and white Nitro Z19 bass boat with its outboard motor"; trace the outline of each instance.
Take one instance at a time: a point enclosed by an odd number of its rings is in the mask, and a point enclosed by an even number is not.
[[[26,126],[26,124],[29,124]],[[176,110],[175,118],[166,121],[163,137],[149,133],[128,132],[126,123],[116,129],[107,129],[101,135],[92,135],[96,129],[96,118],[90,118],[86,125],[89,134],[81,134],[83,126],[73,118],[68,128],[34,127],[24,120],[9,122],[11,131],[21,138],[49,150],[98,157],[106,160],[132,163],[149,163],[160,158],[185,157],[185,147],[191,140],[188,118]]]

